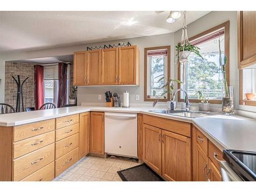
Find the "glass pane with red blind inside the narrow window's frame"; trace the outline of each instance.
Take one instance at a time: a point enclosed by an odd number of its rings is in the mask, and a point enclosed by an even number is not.
[[[164,80],[159,81],[162,77]],[[147,98],[166,98],[161,96],[161,88],[167,81],[167,49],[147,52]],[[158,82],[159,81],[159,82]]]

